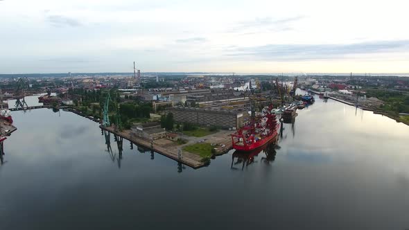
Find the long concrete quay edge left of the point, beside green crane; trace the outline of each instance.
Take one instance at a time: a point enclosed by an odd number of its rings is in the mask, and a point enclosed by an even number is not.
[[[171,150],[170,148],[164,148],[163,146],[153,142],[151,143],[149,140],[142,139],[137,136],[132,136],[130,132],[121,132],[121,131],[115,131],[114,127],[105,127],[103,125],[99,125],[99,127],[102,130],[106,130],[108,132],[111,132],[112,134],[115,134],[117,136],[121,136],[124,139],[127,139],[128,141],[131,141],[132,143],[135,143],[137,145],[141,145],[144,148],[148,148],[149,150],[153,150],[155,152],[158,152],[159,154],[164,155],[165,157],[171,158],[177,162],[184,163],[186,166],[189,166],[191,168],[200,168],[202,166],[205,166],[207,163],[200,161],[200,157],[198,157],[195,154],[191,154],[190,152],[181,152],[180,156],[178,155],[177,150]]]

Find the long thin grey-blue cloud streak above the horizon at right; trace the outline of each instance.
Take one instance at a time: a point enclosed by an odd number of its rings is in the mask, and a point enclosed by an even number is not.
[[[355,44],[268,44],[227,48],[230,57],[256,57],[271,61],[342,58],[350,55],[409,51],[409,40],[361,42]]]

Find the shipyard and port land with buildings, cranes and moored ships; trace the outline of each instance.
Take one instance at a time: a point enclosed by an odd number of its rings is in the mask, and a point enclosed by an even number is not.
[[[331,98],[365,110],[371,110],[367,103],[374,101],[369,98],[366,102],[363,90],[355,101],[342,100],[340,93],[331,89],[338,87],[344,92],[347,85],[302,76],[159,78],[134,68],[134,74],[116,78],[84,79],[69,73],[60,78],[59,84],[56,80],[50,83],[49,78],[37,80],[37,85],[28,78],[18,78],[14,87],[3,87],[2,98],[15,102],[8,109],[8,103],[1,100],[1,117],[11,124],[12,111],[64,109],[99,123],[106,139],[112,134],[115,139],[127,139],[186,166],[200,168],[233,148],[252,151],[278,142],[283,123],[295,123],[297,109],[313,106],[315,98]],[[347,80],[355,82],[357,78],[351,73]],[[326,82],[327,87],[316,87],[320,82]],[[29,106],[26,96],[37,101]]]

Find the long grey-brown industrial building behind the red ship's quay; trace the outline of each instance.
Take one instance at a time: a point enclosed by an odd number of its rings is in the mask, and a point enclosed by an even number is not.
[[[189,107],[168,107],[175,122],[189,122],[196,125],[217,126],[225,129],[238,129],[243,126],[248,112],[245,110],[203,109]]]

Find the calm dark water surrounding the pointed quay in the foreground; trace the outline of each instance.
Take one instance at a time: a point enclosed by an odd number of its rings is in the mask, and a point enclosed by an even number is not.
[[[12,112],[1,229],[409,229],[409,126],[333,100],[298,114],[275,155],[193,170],[125,140],[120,160],[76,114]]]

